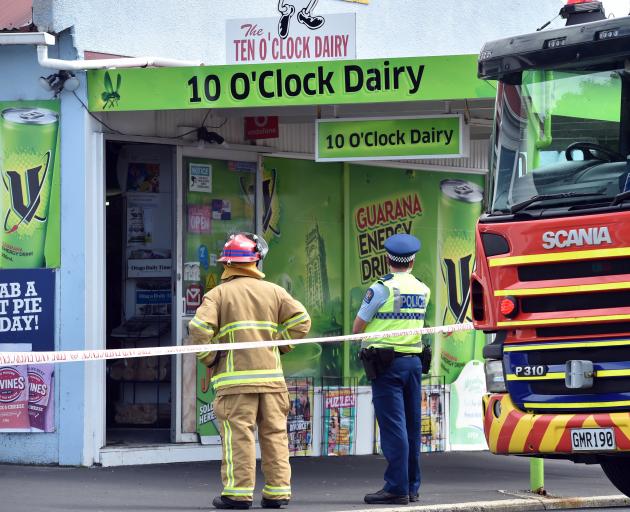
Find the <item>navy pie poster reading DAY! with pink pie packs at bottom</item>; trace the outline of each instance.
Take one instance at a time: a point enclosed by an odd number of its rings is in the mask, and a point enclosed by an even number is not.
[[[52,351],[55,273],[0,270],[0,351]],[[0,432],[53,432],[52,364],[0,366]]]

